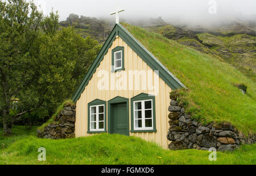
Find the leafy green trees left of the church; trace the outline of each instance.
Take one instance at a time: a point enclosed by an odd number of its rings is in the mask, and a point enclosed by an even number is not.
[[[32,111],[49,114],[70,98],[99,51],[97,41],[72,28],[59,30],[59,16],[43,16],[24,0],[0,1],[0,117],[13,123]],[[13,101],[18,109],[10,114]]]

